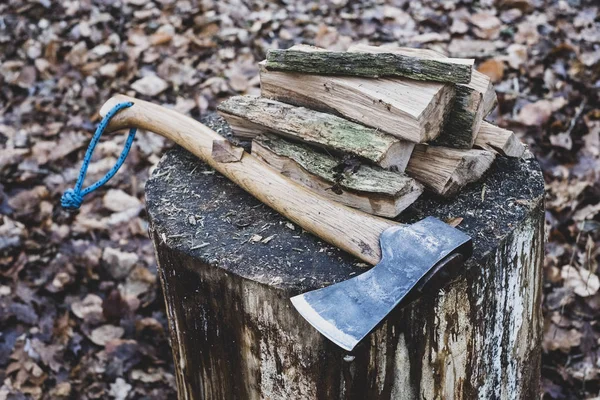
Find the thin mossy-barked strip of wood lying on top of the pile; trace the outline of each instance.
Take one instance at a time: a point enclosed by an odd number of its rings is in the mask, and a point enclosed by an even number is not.
[[[402,76],[420,81],[469,83],[473,67],[393,53],[269,50],[266,68],[319,75]]]

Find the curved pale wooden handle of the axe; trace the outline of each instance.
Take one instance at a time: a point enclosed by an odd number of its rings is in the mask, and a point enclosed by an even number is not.
[[[108,130],[140,128],[158,133],[187,149],[246,192],[326,242],[375,265],[381,259],[379,237],[396,222],[329,201],[273,170],[244,152],[239,161],[218,162],[212,156],[213,141],[223,137],[200,122],[177,111],[116,95],[100,110],[104,116],[114,105],[131,101],[133,106],[117,113]]]

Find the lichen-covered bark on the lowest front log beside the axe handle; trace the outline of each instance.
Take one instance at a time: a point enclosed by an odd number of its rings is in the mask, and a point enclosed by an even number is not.
[[[414,190],[414,179],[403,173],[360,164],[350,171],[340,172],[341,158],[320,153],[310,147],[281,139],[275,135],[262,135],[256,143],[272,153],[297,163],[308,173],[339,185],[344,190],[376,193],[398,197]]]

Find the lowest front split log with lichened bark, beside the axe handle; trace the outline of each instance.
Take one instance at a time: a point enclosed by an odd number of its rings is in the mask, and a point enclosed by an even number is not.
[[[325,198],[382,217],[398,216],[423,192],[402,173],[364,164],[344,171],[342,159],[274,135],[254,139],[252,155]]]

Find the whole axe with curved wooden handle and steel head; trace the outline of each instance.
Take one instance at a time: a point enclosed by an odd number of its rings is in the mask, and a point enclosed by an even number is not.
[[[100,114],[121,102],[133,105],[114,115],[108,130],[141,128],[173,140],[306,231],[375,265],[291,299],[311,325],[346,350],[401,301],[439,289],[471,255],[470,237],[436,218],[404,225],[329,201],[174,110],[116,95]]]

